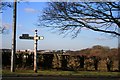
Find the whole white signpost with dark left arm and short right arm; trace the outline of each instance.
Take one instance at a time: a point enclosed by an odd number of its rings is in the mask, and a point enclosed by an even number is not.
[[[37,72],[37,42],[38,40],[43,40],[43,36],[37,35],[37,30],[35,30],[34,36],[29,36],[29,34],[22,34],[22,36],[19,37],[20,39],[28,39],[28,40],[34,40],[34,72]]]

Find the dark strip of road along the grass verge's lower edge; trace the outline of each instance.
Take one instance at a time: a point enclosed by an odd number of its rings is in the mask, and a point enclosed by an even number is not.
[[[120,77],[39,76],[39,77],[2,77],[2,80],[120,80]]]

